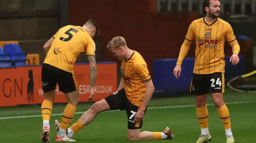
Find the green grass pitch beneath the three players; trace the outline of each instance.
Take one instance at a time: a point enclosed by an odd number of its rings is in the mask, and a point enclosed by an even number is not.
[[[256,143],[256,94],[238,93],[226,89],[224,102],[227,103],[230,111],[232,132],[236,143]],[[226,143],[224,128],[212,103],[209,95],[211,143]],[[76,139],[77,143],[196,143],[201,132],[194,104],[194,96],[151,100],[144,116],[142,131],[163,131],[168,126],[174,133],[172,140],[128,141],[125,111],[100,113],[90,125],[84,127],[72,138]],[[88,110],[91,105],[92,103],[80,103],[76,111],[78,114],[75,114],[72,123],[76,122],[82,112]],[[57,134],[54,119],[61,120],[65,106],[62,104],[53,106],[53,116],[50,119],[50,142],[54,142]],[[24,117],[17,118],[18,116]],[[1,107],[0,127],[0,143],[40,143],[41,106]]]

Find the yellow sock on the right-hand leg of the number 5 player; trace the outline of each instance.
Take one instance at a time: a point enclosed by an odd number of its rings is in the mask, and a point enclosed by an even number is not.
[[[76,107],[73,105],[68,104],[66,108],[64,109],[64,112],[62,114],[62,120],[60,124],[60,128],[62,129],[68,129],[69,124],[72,122],[74,118],[74,114],[76,112]]]

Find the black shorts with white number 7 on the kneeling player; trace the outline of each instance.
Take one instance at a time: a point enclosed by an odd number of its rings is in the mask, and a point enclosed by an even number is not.
[[[126,110],[128,119],[128,129],[141,129],[143,121],[134,123],[135,114],[140,109],[139,106],[132,104],[126,97],[124,88],[114,92],[110,96],[105,98],[106,102],[110,106],[110,110]],[[146,110],[145,110],[146,113]],[[144,113],[144,114],[145,114]]]

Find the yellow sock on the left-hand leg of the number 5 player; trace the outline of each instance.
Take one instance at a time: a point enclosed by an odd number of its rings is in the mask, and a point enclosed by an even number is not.
[[[41,106],[42,109],[42,117],[44,120],[50,120],[50,116],[52,114],[52,102],[50,100],[44,100]]]

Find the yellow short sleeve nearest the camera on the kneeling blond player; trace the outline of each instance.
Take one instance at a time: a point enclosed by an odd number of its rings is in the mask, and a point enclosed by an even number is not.
[[[146,63],[137,64],[135,66],[135,71],[140,75],[142,82],[147,82],[151,80],[151,76],[148,72],[148,66],[146,65]]]

